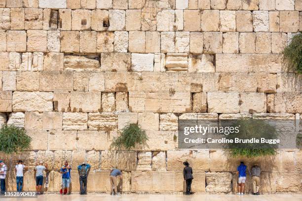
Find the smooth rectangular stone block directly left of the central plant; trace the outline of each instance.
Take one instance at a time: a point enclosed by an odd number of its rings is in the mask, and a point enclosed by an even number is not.
[[[77,149],[105,150],[108,148],[106,131],[78,131]]]

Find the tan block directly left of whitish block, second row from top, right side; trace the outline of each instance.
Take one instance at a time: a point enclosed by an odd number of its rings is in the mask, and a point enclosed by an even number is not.
[[[248,10],[236,11],[237,32],[253,32],[252,12]]]

